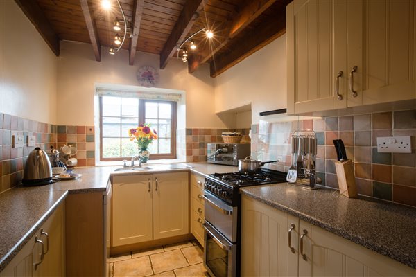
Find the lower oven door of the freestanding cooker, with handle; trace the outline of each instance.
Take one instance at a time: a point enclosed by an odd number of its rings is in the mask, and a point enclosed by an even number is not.
[[[214,226],[205,222],[204,265],[209,275],[215,277],[236,276],[236,244],[233,244]]]

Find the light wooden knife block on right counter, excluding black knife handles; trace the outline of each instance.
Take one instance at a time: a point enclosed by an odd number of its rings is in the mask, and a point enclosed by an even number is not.
[[[358,197],[352,161],[349,159],[346,161],[336,161],[335,168],[340,193],[349,198]]]

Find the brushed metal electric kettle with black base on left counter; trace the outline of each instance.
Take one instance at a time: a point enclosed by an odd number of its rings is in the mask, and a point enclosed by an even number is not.
[[[35,148],[29,154],[22,182],[24,186],[40,186],[55,182],[52,179],[51,162],[44,150]]]

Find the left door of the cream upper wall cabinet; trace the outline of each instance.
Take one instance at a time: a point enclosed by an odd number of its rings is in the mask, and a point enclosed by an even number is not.
[[[345,0],[293,1],[286,7],[288,114],[347,107],[346,8]]]

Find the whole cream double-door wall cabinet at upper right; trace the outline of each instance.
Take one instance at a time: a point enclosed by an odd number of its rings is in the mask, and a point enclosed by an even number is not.
[[[412,0],[297,0],[286,7],[288,113],[416,98]]]

